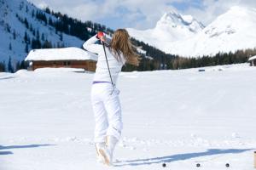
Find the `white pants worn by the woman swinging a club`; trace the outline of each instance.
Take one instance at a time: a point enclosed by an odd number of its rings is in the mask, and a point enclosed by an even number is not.
[[[91,104],[95,116],[95,142],[102,143],[111,135],[119,140],[123,128],[119,90],[111,83],[92,85]]]

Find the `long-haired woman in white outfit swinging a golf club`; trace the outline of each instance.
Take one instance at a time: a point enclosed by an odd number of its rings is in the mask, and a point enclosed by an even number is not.
[[[104,45],[96,44],[98,40]],[[117,78],[125,63],[138,65],[139,57],[133,51],[125,29],[115,31],[109,42],[102,32],[98,32],[96,36],[84,42],[83,47],[98,54],[91,89],[91,103],[96,121],[95,144],[98,160],[111,165],[113,150],[123,127],[119,90],[116,88]]]

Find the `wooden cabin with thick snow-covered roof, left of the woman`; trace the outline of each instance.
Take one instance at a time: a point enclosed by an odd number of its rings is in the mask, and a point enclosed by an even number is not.
[[[38,68],[81,68],[84,71],[96,71],[96,54],[81,48],[45,48],[33,49],[26,56],[29,70]]]

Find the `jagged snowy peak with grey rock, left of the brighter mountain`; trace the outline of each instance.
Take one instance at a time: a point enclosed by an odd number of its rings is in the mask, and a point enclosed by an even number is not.
[[[165,50],[163,43],[169,44],[193,37],[203,28],[201,22],[195,20],[191,15],[182,15],[171,11],[164,14],[153,29],[138,31],[127,28],[127,31],[129,31],[131,37]]]

